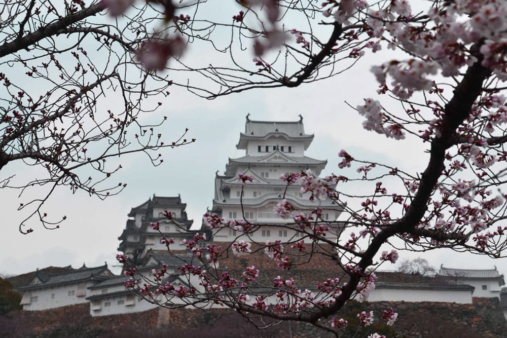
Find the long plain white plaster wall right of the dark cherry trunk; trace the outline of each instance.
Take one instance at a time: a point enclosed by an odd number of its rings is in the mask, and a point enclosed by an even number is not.
[[[375,289],[368,302],[449,302],[472,304],[472,292],[464,290]]]

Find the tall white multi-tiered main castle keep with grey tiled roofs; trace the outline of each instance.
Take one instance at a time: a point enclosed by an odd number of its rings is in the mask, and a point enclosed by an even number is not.
[[[326,160],[305,156],[312,140],[313,134],[305,133],[301,115],[299,121],[274,122],[253,121],[248,114],[245,131],[240,134],[236,145],[246,154],[240,158],[230,158],[223,175],[216,173],[210,213],[217,213],[226,221],[248,220],[263,224],[259,231],[249,234],[250,240],[259,242],[283,241],[300,235],[291,227],[283,227],[290,219],[282,219],[275,213],[274,208],[282,198],[294,205],[296,210],[293,213],[308,215],[312,209],[319,207],[322,209],[322,220],[335,221],[342,208],[331,199],[310,201],[310,193],[303,194],[299,184],[289,186],[283,196],[287,183],[280,179],[281,174],[311,170],[318,176],[327,164]],[[251,176],[253,181],[243,186],[238,174]],[[334,224],[327,238],[336,238],[338,231],[339,227]],[[215,230],[213,240],[231,242],[238,235],[233,228],[219,229]]]

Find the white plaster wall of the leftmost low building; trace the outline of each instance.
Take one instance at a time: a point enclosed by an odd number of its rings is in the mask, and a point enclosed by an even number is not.
[[[86,287],[90,286],[91,282],[86,284]],[[74,295],[68,295],[68,291],[73,291]],[[85,289],[85,293],[88,293],[88,289]],[[37,302],[31,302],[30,304],[23,305],[23,310],[36,311],[59,308],[62,306],[81,304],[88,302],[85,298],[89,294],[84,296],[77,296],[78,284],[66,284],[52,287],[45,287],[37,290],[25,291],[30,293],[30,297],[37,296]],[[24,294],[24,293],[23,293]],[[51,295],[54,294],[54,298]]]

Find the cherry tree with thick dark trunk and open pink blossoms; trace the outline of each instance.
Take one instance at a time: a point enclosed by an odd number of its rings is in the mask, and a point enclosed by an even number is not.
[[[198,86],[187,80],[180,86],[208,98],[253,88],[296,87],[353,70],[366,53],[393,50],[390,55],[396,58],[384,62],[379,58],[371,69],[379,84],[375,97],[350,106],[364,117],[365,129],[399,142],[409,138],[421,142],[428,160],[411,173],[359,159],[343,149],[340,172],[335,175],[323,179],[306,171],[281,177],[287,186],[301,185],[301,192],[310,192],[317,202],[310,216],[296,213],[283,197],[275,208],[287,220],[285,227],[299,232],[298,236],[259,243],[250,235],[265,224],[246,217],[226,221],[206,213],[207,228],[236,230],[237,241],[207,243],[197,233],[185,242],[192,261],[176,270],[164,266],[153,276],[140,275],[131,267],[126,272],[132,277],[126,282],[129,289],[161,306],[229,307],[259,327],[296,320],[338,336],[348,326],[340,311],[350,299],[368,299],[375,289],[375,270],[394,264],[404,251],[447,248],[505,256],[504,2],[241,0],[237,3],[242,8],[222,22],[201,11],[200,6],[211,3],[182,2],[186,5],[180,8],[192,16],[182,14],[168,25],[177,27],[174,31],[184,40],[208,43],[227,53],[228,64],[164,63],[172,70],[197,72],[201,81],[208,81]],[[176,23],[180,21],[185,24]],[[220,34],[215,35],[223,27],[231,33],[225,46],[216,40]],[[167,43],[173,44],[174,39],[169,37]],[[253,61],[243,57],[245,52],[253,55]],[[387,103],[390,107],[397,103],[397,108],[387,109]],[[244,184],[251,180],[245,175],[239,178]],[[368,193],[358,195],[358,186]],[[340,221],[322,219],[318,201],[324,195],[343,206]],[[153,226],[158,229],[158,224]],[[325,236],[333,226],[343,229],[338,241]],[[173,242],[163,239],[168,252],[173,252]],[[276,275],[266,279],[262,269],[253,265],[240,271],[219,266],[230,257],[248,261],[259,254],[274,262]],[[118,258],[128,260],[124,255]],[[312,290],[304,290],[308,286],[295,278],[283,277],[319,259],[327,260],[332,269]],[[170,274],[186,283],[167,280]],[[392,325],[397,314],[386,309],[382,314],[364,311],[357,317],[366,327],[375,320]]]

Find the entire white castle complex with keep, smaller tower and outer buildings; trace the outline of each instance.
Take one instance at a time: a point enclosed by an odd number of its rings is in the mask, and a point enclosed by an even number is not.
[[[326,237],[336,239],[336,234],[340,231],[336,219],[342,206],[329,198],[321,197],[310,201],[310,193],[302,193],[301,186],[297,183],[288,186],[285,192],[286,182],[280,179],[280,175],[285,173],[307,170],[316,176],[321,173],[327,161],[305,156],[312,140],[313,135],[304,131],[302,117],[295,122],[273,122],[252,121],[247,116],[245,131],[240,134],[237,144],[238,149],[245,151],[245,156],[229,159],[224,174],[216,175],[213,206],[208,212],[218,213],[226,221],[248,220],[261,226],[249,234],[249,238],[233,227],[220,228],[219,231],[213,229],[215,233],[211,237],[206,228],[207,241],[202,245],[208,241],[230,244],[237,240],[286,242],[297,239],[292,228],[297,225],[291,225],[290,218],[282,219],[274,211],[276,204],[283,198],[294,205],[296,210],[293,213],[308,214],[315,208],[322,209],[319,221],[329,222],[332,226],[332,232]],[[252,181],[243,185],[238,176],[240,173],[252,177]],[[167,281],[175,287],[179,285],[190,288],[199,285],[199,281],[191,281],[181,275],[178,267],[187,262],[195,266],[202,264],[185,244],[186,239],[192,238],[195,232],[202,233],[202,230],[191,230],[192,220],[187,217],[186,206],[179,195],[153,195],[133,207],[118,238],[121,241],[118,250],[144,276],[152,276],[153,269],[165,266],[169,275],[164,283]],[[160,232],[150,225],[157,222]],[[172,242],[170,252],[164,243],[167,239]],[[221,266],[222,269],[234,269],[227,257],[222,257]],[[317,268],[322,270],[320,266]],[[124,266],[123,272],[125,270]],[[298,272],[297,269],[295,271]],[[299,269],[299,272],[302,271]],[[504,316],[507,317],[507,288],[502,288],[504,278],[496,268],[463,270],[442,266],[436,276],[381,271],[376,273],[379,280],[369,298],[370,302],[447,302],[454,307],[454,304],[473,306],[473,297],[497,297]],[[301,275],[302,280],[305,280],[305,275],[307,274]],[[135,278],[143,283],[138,276]],[[70,266],[48,267],[8,280],[23,294],[21,305],[23,310],[28,311],[89,303],[91,316],[107,316],[158,307],[125,288],[124,283],[130,280],[130,275],[114,275],[107,265],[92,268],[83,265],[78,269]],[[308,282],[302,286],[312,289],[315,284]]]

